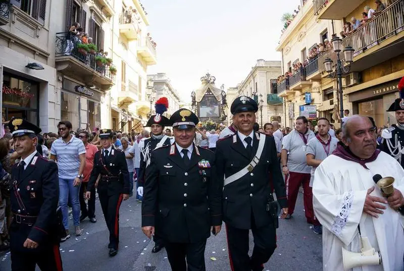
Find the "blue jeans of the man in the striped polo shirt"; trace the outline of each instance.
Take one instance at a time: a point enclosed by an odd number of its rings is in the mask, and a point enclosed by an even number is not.
[[[79,191],[80,185],[73,186],[74,179],[59,178],[59,204],[62,208],[63,226],[69,229],[69,209],[67,203],[70,200],[73,209],[73,224],[80,225],[80,202]]]

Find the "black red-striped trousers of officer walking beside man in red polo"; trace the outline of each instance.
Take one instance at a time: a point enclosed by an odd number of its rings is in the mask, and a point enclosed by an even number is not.
[[[122,194],[108,194],[107,190],[98,190],[99,203],[103,209],[105,221],[110,231],[108,248],[118,249],[119,244],[119,208],[122,204]]]

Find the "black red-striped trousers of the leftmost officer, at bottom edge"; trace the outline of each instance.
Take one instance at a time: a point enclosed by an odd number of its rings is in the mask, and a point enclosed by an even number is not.
[[[38,264],[41,271],[63,271],[59,245],[46,245],[39,250],[15,251],[11,249],[12,271],[35,271]]]

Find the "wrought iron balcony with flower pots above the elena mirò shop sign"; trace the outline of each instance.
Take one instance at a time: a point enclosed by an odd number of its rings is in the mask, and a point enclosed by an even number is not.
[[[78,48],[82,42],[68,32],[56,34],[56,69],[67,76],[108,90],[115,81],[115,66],[112,63],[97,61],[95,54]],[[115,70],[115,72],[114,72]]]

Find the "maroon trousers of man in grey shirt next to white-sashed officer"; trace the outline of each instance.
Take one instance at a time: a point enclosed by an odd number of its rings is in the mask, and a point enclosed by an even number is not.
[[[313,225],[320,225],[320,222],[315,219],[313,210],[313,191],[310,187],[310,173],[289,172],[286,177],[286,192],[287,192],[287,205],[288,213],[292,215],[296,205],[299,187],[303,186],[303,203],[305,206],[305,216],[307,222]]]

